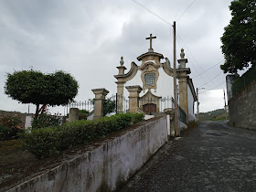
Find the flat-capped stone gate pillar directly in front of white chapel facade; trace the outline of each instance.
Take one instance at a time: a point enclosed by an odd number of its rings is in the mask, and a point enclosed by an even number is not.
[[[141,86],[127,86],[125,87],[129,91],[129,112],[138,112],[139,107],[139,95],[143,90]]]

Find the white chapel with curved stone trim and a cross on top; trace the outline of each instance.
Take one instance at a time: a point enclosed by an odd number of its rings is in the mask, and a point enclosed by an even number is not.
[[[152,48],[152,39],[156,37],[147,37],[150,40],[150,48],[144,54],[137,57],[141,62],[137,65],[131,63],[131,69],[125,73],[126,67],[123,65],[123,57],[120,61],[118,75],[114,75],[117,84],[117,112],[123,112],[123,95],[125,91],[129,92],[130,112],[145,112],[155,114],[164,112],[165,109],[174,108],[174,81],[173,68],[170,61]],[[162,61],[164,60],[164,61]],[[195,101],[197,101],[196,91],[193,81],[189,78],[190,69],[186,67],[184,49],[181,49],[180,59],[176,69],[176,78],[178,80],[178,104],[187,115],[187,123],[195,120]],[[124,89],[125,88],[125,89]]]

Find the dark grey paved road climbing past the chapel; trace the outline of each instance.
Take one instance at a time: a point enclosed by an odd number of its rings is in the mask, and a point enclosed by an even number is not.
[[[165,144],[121,191],[256,191],[256,131],[199,123]]]

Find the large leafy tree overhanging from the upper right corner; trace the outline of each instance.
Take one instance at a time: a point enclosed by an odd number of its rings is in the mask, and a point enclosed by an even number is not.
[[[256,64],[256,1],[232,1],[229,9],[232,18],[220,38],[225,57],[220,69],[236,73],[238,69]]]

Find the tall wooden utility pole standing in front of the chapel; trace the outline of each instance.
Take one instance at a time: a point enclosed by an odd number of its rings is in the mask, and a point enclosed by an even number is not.
[[[176,94],[176,22],[174,22],[174,97],[175,97],[175,136],[180,136],[177,119],[177,94]]]

